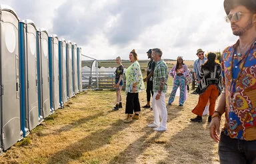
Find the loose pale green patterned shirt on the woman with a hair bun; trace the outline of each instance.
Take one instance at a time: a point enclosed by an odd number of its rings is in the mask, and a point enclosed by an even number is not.
[[[132,93],[133,84],[137,82],[137,87],[135,93],[140,92],[141,90],[145,90],[145,85],[143,82],[143,76],[141,73],[141,66],[139,66],[139,62],[135,61],[131,66],[129,66],[126,70],[126,87],[125,92]]]

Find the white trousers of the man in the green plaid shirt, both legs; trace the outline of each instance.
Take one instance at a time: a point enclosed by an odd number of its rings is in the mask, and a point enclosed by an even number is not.
[[[154,123],[167,129],[167,109],[165,105],[165,93],[161,92],[159,100],[155,100],[157,92],[154,92],[152,99],[152,108],[154,112]],[[161,122],[160,122],[160,118]]]

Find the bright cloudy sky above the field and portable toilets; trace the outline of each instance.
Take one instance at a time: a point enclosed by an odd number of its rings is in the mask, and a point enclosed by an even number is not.
[[[149,48],[162,58],[197,59],[198,48],[218,52],[237,41],[224,20],[223,0],[0,0],[20,21],[77,43],[82,54],[97,60],[139,60]],[[82,57],[82,60],[89,58]]]

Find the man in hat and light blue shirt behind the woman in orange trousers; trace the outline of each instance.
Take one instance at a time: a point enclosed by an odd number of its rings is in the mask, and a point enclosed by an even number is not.
[[[194,72],[194,77],[195,77],[195,82],[199,84],[200,82],[200,68],[203,63],[207,60],[205,58],[205,51],[203,51],[201,48],[197,50],[197,60],[195,60],[194,65],[193,65],[193,72]]]

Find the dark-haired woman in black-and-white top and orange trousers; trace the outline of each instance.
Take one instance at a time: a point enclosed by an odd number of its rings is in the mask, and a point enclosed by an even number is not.
[[[209,117],[208,122],[211,122],[211,116],[215,109],[215,102],[221,93],[221,65],[216,60],[216,54],[209,52],[207,61],[202,64],[200,70],[200,83],[197,88],[199,100],[197,106],[192,110],[196,114],[196,118],[191,118],[192,122],[202,122],[203,110],[209,100]]]

